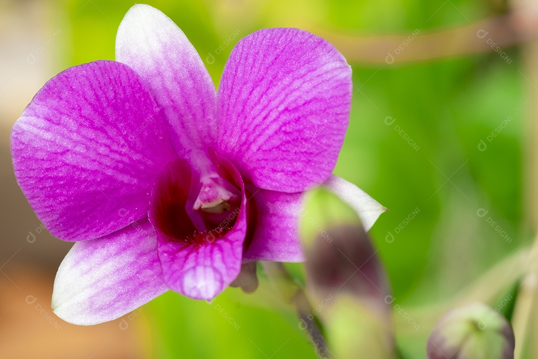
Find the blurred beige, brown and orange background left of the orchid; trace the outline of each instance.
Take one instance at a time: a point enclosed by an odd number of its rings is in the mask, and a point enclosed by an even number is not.
[[[11,126],[68,57],[69,18],[59,5],[0,0],[0,358],[152,357],[143,311],[90,327],[52,312],[55,272],[72,244],[41,227],[13,175]],[[37,51],[57,29],[61,41]]]

